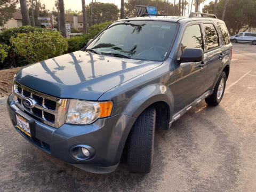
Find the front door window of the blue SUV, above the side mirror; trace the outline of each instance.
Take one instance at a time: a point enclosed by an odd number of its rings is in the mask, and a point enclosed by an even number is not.
[[[188,26],[185,30],[185,33],[182,37],[180,44],[181,52],[187,48],[202,48],[202,34],[201,28],[199,25]]]

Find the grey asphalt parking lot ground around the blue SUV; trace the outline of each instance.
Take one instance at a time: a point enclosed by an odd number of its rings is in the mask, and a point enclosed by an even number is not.
[[[0,191],[255,191],[256,46],[233,46],[220,105],[203,101],[170,130],[157,130],[146,175],[125,164],[99,175],[62,162],[23,139],[1,105]]]

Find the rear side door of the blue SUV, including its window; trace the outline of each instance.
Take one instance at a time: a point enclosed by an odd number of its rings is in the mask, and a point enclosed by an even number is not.
[[[221,42],[214,23],[203,23],[205,37],[205,53],[207,54],[206,87],[210,89],[217,78],[225,52],[221,50]]]

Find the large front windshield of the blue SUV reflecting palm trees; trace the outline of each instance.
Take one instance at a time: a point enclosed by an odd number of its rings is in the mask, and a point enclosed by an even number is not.
[[[162,21],[120,21],[103,31],[87,49],[140,60],[164,60],[177,24]]]

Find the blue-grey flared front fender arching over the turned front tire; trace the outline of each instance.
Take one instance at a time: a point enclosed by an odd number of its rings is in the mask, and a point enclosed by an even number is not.
[[[170,115],[172,115],[173,100],[173,94],[169,87],[161,84],[151,84],[143,87],[143,89],[133,95],[124,107],[122,114],[137,118],[150,105],[162,101],[169,106]]]

